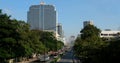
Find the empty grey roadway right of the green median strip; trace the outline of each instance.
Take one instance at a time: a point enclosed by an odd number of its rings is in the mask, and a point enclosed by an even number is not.
[[[76,57],[74,57],[73,51],[70,50],[57,63],[81,63],[81,62]]]

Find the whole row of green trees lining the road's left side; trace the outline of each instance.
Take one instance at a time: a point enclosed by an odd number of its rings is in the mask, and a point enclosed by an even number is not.
[[[0,62],[5,59],[43,54],[56,50],[58,41],[51,32],[30,30],[29,24],[10,19],[0,10]],[[44,50],[46,50],[44,52]]]

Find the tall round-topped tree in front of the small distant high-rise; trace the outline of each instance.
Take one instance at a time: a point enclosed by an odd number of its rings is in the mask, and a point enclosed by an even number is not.
[[[88,25],[80,32],[81,37],[76,39],[74,45],[76,56],[79,56],[83,63],[97,63],[98,52],[106,45],[99,37],[100,29],[93,25]]]

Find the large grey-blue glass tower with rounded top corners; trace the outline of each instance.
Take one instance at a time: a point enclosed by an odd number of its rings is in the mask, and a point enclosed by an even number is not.
[[[57,31],[56,9],[53,5],[32,5],[27,13],[27,22],[31,29]]]

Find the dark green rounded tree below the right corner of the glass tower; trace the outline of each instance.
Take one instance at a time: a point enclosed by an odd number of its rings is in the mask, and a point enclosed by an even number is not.
[[[47,52],[56,50],[57,40],[52,32],[43,32],[40,41],[45,45]]]

